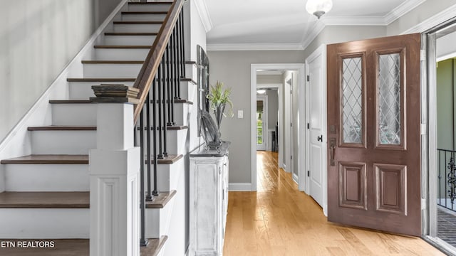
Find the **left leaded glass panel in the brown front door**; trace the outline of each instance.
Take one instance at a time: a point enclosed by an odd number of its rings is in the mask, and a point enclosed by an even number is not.
[[[361,57],[344,58],[342,64],[343,143],[363,142],[363,81]]]

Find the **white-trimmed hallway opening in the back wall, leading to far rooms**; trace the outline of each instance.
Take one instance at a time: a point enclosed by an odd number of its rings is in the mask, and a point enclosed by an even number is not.
[[[304,149],[299,149],[304,144],[299,129],[299,119],[304,119],[304,91],[299,93],[304,64],[252,64],[251,71],[252,191],[257,191],[257,159],[261,160],[257,151],[277,152],[279,169],[291,173],[304,190],[299,168],[304,161]]]

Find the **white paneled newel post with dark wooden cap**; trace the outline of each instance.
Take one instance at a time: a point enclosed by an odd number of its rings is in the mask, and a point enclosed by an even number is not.
[[[138,90],[94,85],[97,148],[89,154],[90,256],[139,256],[140,149],[134,146]]]

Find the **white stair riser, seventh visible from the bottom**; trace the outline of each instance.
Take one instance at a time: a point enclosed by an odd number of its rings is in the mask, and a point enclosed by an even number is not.
[[[95,60],[145,60],[150,49],[95,49]]]

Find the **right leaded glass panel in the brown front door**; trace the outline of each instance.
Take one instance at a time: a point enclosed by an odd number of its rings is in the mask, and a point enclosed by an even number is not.
[[[378,57],[379,144],[400,144],[400,54]]]

